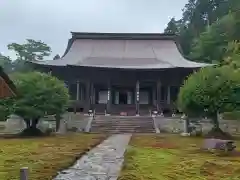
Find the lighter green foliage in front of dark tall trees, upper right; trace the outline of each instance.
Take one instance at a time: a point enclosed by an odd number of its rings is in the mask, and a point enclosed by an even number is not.
[[[207,30],[195,39],[190,57],[212,63],[220,62],[226,53],[228,42],[236,38],[236,20],[233,14],[224,16],[213,23]]]

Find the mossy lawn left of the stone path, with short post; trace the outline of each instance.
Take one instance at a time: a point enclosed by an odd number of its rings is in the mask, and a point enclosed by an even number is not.
[[[29,167],[31,180],[51,180],[104,135],[67,134],[31,139],[0,139],[0,179],[19,180],[19,169]]]

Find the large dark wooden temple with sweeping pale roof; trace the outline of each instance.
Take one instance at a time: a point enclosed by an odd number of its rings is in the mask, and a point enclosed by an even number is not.
[[[185,59],[175,35],[79,32],[62,58],[35,65],[65,81],[70,109],[128,115],[172,111],[186,76],[207,66]]]

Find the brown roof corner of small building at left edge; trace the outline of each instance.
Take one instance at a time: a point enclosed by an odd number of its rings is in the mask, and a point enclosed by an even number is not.
[[[16,88],[8,75],[0,67],[0,99],[16,95]]]

